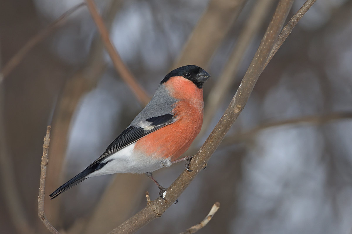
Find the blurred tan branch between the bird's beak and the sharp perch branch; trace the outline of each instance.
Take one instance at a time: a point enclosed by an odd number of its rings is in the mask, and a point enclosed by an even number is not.
[[[253,36],[256,35],[259,27],[264,23],[264,18],[268,14],[268,9],[273,2],[274,0],[258,0],[254,5],[251,14],[248,17],[249,19],[243,27],[242,32],[239,34],[238,41],[236,42],[230,58],[226,62],[224,71],[221,73],[205,102],[207,105],[204,108],[203,126],[196,141],[203,138],[204,133],[207,131],[210,122],[216,114],[219,104],[230,91],[231,83],[235,79],[239,65],[243,60],[243,55],[245,54],[247,47],[250,45]]]

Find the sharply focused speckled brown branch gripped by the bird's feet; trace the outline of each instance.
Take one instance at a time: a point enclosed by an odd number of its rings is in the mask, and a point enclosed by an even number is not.
[[[149,205],[112,230],[109,234],[134,233],[153,219],[161,216],[207,164],[208,160],[213,155],[216,148],[219,147],[226,133],[243,110],[243,107],[246,105],[256,81],[264,69],[265,62],[269,57],[292,4],[293,0],[279,1],[269,27],[266,29],[260,46],[230,105],[196,156],[193,157],[190,163],[190,169],[193,170],[193,172],[190,173],[184,170],[166,190],[165,200],[158,198],[155,201],[151,201]]]

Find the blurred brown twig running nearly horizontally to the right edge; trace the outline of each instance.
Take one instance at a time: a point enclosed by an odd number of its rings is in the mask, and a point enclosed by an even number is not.
[[[352,118],[352,112],[335,112],[335,113],[329,113],[325,115],[308,115],[297,119],[289,119],[289,120],[282,120],[282,121],[277,121],[272,123],[264,123],[245,133],[235,133],[233,135],[227,136],[224,139],[224,141],[221,143],[221,145],[228,146],[228,145],[232,145],[234,142],[246,141],[246,140],[252,139],[260,131],[263,131],[271,127],[279,127],[283,125],[302,124],[302,123],[322,125],[334,120],[351,119],[351,118]]]

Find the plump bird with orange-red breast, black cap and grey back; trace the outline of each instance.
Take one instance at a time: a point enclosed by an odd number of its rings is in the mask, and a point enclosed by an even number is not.
[[[160,189],[152,172],[186,160],[178,159],[200,132],[203,122],[203,83],[210,75],[199,66],[179,67],[165,76],[152,100],[106,151],[81,173],[50,194],[55,198],[83,180],[113,173],[145,173]]]

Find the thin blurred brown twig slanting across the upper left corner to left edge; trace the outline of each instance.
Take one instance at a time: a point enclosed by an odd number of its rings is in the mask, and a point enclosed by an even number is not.
[[[47,36],[49,36],[50,33],[54,31],[54,29],[63,25],[64,20],[66,20],[70,14],[74,13],[84,5],[86,4],[83,2],[70,8],[67,12],[63,13],[59,18],[52,22],[48,27],[44,28],[38,34],[33,36],[29,41],[27,41],[27,43],[15,55],[13,55],[12,58],[2,68],[2,71],[0,73],[0,84],[35,45],[37,45],[39,42],[43,41]]]

